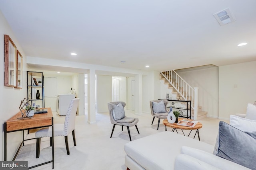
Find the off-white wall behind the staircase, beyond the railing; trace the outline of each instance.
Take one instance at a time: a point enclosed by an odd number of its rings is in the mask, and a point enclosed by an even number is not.
[[[192,87],[198,87],[198,105],[207,111],[208,117],[218,118],[218,67],[177,70],[177,73]]]

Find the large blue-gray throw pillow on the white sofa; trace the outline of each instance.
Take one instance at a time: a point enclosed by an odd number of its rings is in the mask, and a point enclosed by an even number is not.
[[[256,170],[256,131],[243,132],[220,121],[217,156]]]

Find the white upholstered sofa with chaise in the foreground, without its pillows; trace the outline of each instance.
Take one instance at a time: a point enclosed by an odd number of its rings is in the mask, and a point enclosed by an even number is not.
[[[124,145],[130,170],[249,170],[212,154],[214,146],[165,131]]]

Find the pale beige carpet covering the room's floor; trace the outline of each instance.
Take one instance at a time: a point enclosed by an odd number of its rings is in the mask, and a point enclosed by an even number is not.
[[[64,122],[64,116],[54,114],[54,123]],[[155,119],[153,125],[152,115],[144,113],[135,115],[133,111],[126,110],[126,116],[138,117],[137,124],[140,135],[135,127],[130,127],[132,140],[136,140],[148,135],[164,131],[164,125],[160,124],[157,131],[157,122]],[[96,124],[87,123],[87,115],[76,116],[76,144],[74,147],[72,134],[69,135],[68,141],[70,146],[70,155],[66,154],[64,137],[54,138],[54,169],[55,170],[126,170],[124,165],[124,144],[130,142],[127,129],[116,126],[113,136],[110,134],[113,125],[110,123],[108,113],[96,113]],[[211,145],[215,144],[216,135],[218,133],[219,119],[205,118],[200,120],[203,124],[200,129],[200,139]],[[162,120],[160,121],[162,123]],[[172,129],[168,128],[168,131]],[[182,134],[181,131],[178,131]],[[192,131],[190,137],[194,137]],[[184,131],[188,135],[189,131]],[[34,133],[30,133],[28,138],[34,137]],[[198,140],[197,136],[196,139]],[[16,160],[28,160],[28,166],[33,166],[52,159],[52,148],[50,147],[49,138],[41,140],[40,158],[36,159],[36,140],[26,141],[22,147],[20,154]],[[149,147],[150,149],[150,147]],[[52,163],[33,168],[33,170],[50,170]]]

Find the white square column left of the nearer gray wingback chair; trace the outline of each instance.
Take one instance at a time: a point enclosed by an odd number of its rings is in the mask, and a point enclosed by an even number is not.
[[[95,69],[88,71],[88,123],[96,123]]]

